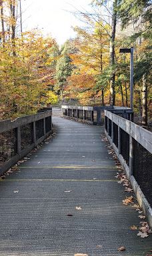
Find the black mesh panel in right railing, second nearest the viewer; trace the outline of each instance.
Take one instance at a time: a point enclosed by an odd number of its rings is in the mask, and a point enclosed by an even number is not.
[[[121,155],[129,165],[129,134],[121,129]]]

